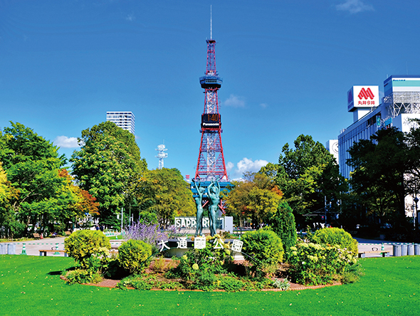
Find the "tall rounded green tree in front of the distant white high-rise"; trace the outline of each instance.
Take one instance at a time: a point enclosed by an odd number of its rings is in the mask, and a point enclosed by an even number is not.
[[[135,184],[147,169],[135,137],[107,121],[83,130],[78,142],[82,146],[70,159],[73,175],[99,202],[101,223],[117,225],[117,214],[130,205]]]

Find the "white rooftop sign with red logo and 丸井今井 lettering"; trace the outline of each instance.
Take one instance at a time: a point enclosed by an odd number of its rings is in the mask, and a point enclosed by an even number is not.
[[[347,92],[347,110],[352,112],[356,107],[379,106],[379,85],[353,85]]]

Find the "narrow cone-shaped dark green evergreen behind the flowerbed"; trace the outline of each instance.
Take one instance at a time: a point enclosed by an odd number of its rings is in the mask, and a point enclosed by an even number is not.
[[[271,229],[280,237],[285,250],[285,259],[288,258],[290,247],[296,245],[298,235],[296,233],[295,216],[288,202],[280,201],[277,212],[270,220]]]

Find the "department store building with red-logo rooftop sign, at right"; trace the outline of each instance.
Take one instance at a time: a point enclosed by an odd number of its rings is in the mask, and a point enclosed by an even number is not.
[[[347,152],[360,139],[369,139],[379,129],[397,127],[409,132],[410,119],[420,118],[420,75],[392,75],[384,81],[384,98],[379,102],[377,85],[355,85],[347,93],[347,110],[353,124],[340,132],[338,151],[340,173],[350,179]],[[412,216],[412,196],[406,198],[406,215]]]

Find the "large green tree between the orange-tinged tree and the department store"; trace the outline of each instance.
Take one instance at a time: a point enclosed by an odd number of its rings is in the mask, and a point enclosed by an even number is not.
[[[323,210],[325,197],[330,208],[338,211],[347,184],[335,158],[309,135],[300,135],[294,147],[285,144],[278,159],[275,182],[285,200],[296,214]]]

